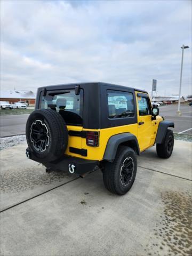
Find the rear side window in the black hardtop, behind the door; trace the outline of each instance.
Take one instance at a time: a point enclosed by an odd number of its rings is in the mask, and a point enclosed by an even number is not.
[[[134,116],[134,100],[131,92],[107,90],[107,101],[109,118]]]

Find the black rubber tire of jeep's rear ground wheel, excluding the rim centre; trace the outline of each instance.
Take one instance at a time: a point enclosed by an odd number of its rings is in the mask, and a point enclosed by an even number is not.
[[[131,159],[133,173],[130,182],[125,186],[122,184],[121,170],[125,159]],[[120,146],[113,163],[106,162],[103,170],[103,182],[105,187],[114,194],[124,195],[133,185],[137,173],[137,156],[130,147]]]

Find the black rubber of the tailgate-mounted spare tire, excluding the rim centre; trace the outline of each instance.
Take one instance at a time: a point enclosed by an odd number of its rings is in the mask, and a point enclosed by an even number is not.
[[[36,121],[42,121],[46,125],[49,134],[49,143],[45,151],[38,151],[31,141],[31,125]],[[52,162],[60,158],[67,148],[68,131],[64,119],[57,111],[52,109],[37,109],[28,117],[26,124],[26,139],[29,150],[37,158],[45,162]]]

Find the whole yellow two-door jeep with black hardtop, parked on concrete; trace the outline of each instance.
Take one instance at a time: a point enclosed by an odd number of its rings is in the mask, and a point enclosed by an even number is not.
[[[80,176],[96,166],[106,188],[124,195],[135,180],[137,156],[156,145],[173,151],[174,123],[152,108],[146,91],[108,83],[62,84],[37,91],[26,124],[26,155],[47,170]]]

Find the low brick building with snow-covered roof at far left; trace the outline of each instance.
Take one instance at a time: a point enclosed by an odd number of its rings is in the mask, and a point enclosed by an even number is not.
[[[0,100],[14,103],[24,101],[28,106],[35,105],[35,94],[32,91],[1,90]]]

